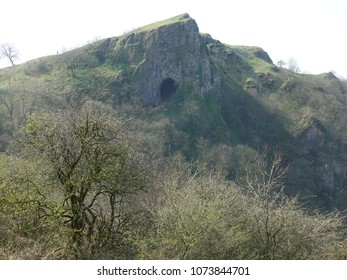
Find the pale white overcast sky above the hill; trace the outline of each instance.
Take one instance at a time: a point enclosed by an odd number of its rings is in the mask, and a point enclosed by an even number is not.
[[[200,32],[229,45],[259,46],[276,63],[347,78],[346,0],[10,0],[0,4],[0,43],[20,62],[56,54],[189,13]],[[0,66],[9,66],[5,59]]]

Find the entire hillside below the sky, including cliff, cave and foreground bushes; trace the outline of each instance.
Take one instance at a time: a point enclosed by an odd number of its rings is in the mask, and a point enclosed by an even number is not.
[[[0,69],[0,258],[344,259],[346,106],[187,14]]]

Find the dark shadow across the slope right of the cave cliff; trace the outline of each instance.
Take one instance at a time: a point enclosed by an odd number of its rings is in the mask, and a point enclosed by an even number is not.
[[[294,137],[285,129],[283,117],[270,113],[257,98],[237,87],[222,96],[221,106],[233,146],[283,152],[283,163],[289,167],[285,182],[288,195],[299,194],[306,206],[324,211],[345,209],[347,167],[343,155],[347,147],[329,128],[313,120]],[[312,127],[318,131],[314,140],[310,139]]]

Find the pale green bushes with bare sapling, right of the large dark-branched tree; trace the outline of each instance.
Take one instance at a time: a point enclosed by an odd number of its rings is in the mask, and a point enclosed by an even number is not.
[[[152,227],[145,259],[335,259],[346,257],[343,217],[308,213],[283,193],[281,156],[254,158],[244,185],[175,158],[145,202]]]

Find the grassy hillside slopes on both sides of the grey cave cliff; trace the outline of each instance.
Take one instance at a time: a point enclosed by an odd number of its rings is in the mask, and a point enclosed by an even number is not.
[[[181,15],[136,32],[154,31],[186,18]],[[110,103],[114,108],[131,100],[131,75],[138,65],[115,51],[121,39],[102,40],[0,69],[2,100],[12,102],[15,108],[11,121],[2,102],[2,148],[33,111],[78,106],[86,98]],[[246,145],[255,150],[279,147],[291,165],[288,184],[292,193],[318,195],[316,203],[320,206],[343,207],[346,182],[336,179],[336,189],[326,189],[318,176],[322,166],[341,163],[347,154],[347,94],[341,82],[331,74],[300,75],[278,68],[256,55],[256,47],[215,42],[208,50],[213,71],[222,79],[221,95],[201,98],[181,88],[165,105],[165,111],[148,109],[142,116],[148,121],[172,122],[170,147],[188,158],[201,157],[198,143],[204,139],[210,149],[219,144]],[[309,143],[306,135],[313,123],[318,127],[318,140]]]

